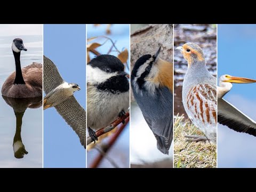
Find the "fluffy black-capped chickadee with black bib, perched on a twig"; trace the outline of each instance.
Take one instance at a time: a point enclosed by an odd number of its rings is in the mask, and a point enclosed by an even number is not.
[[[113,55],[99,55],[87,64],[87,127],[95,131],[125,114],[130,106],[130,86],[123,63]]]

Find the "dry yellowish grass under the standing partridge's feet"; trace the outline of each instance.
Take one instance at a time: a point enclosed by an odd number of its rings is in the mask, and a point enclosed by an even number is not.
[[[190,142],[184,135],[204,135],[183,115],[174,119],[174,167],[212,168],[217,167],[216,145],[207,142]]]

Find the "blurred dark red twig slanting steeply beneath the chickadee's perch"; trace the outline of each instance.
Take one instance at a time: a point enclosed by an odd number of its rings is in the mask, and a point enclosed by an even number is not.
[[[126,113],[125,115],[129,115],[127,116],[127,118],[125,119],[125,123],[127,124],[130,120],[130,114]],[[117,120],[116,120],[117,121]],[[125,125],[126,125],[125,124]],[[108,150],[111,148],[111,146],[114,145],[115,141],[117,140],[117,138],[119,137],[120,133],[122,133],[122,131],[124,130],[125,127],[124,124],[122,124],[119,129],[117,130],[117,132],[113,135],[113,137],[111,137],[111,139],[109,140],[109,143],[107,145],[105,145],[105,148],[103,148],[102,150],[105,152],[105,154],[108,152]],[[97,133],[97,132],[96,132]],[[90,168],[97,168],[101,162],[101,160],[103,159],[103,155],[100,154],[97,158],[95,158],[95,161],[92,163],[92,165],[90,166]]]

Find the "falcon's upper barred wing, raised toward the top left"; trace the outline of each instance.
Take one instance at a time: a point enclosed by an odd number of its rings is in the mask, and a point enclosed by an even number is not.
[[[57,67],[47,57],[44,56],[44,92],[45,94],[51,92],[60,84],[64,83]]]

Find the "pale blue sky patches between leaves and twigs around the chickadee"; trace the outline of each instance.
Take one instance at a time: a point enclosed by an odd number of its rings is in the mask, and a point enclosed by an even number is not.
[[[127,24],[115,24],[112,25],[111,28],[111,34],[106,35],[106,25],[100,25],[100,26],[93,26],[92,24],[87,25],[87,38],[95,37],[95,36],[108,36],[110,37],[114,42],[116,41],[116,47],[119,51],[122,51],[124,48],[126,48],[129,52],[130,57],[130,25]],[[97,42],[97,43],[103,43],[106,39],[100,38],[95,39],[90,43]],[[108,41],[104,45],[97,48],[97,50],[101,54],[106,54],[111,47],[111,43]],[[117,52],[111,52],[110,54],[117,56]],[[91,58],[95,57],[95,55],[90,54]],[[128,59],[130,61],[130,59]],[[130,62],[128,62],[128,65],[130,66]],[[129,73],[129,70],[126,68],[126,72]],[[113,159],[115,163],[119,167],[129,167],[130,161],[130,124],[127,124],[125,129],[122,131],[121,135],[119,135],[119,138],[116,140],[116,143],[114,146],[108,151],[108,157]],[[110,137],[104,139],[102,142],[105,143],[109,140]],[[87,167],[91,165],[91,163],[94,161],[95,157],[99,155],[98,151],[95,149],[92,149],[87,152]],[[102,160],[99,167],[112,167],[112,165],[109,163],[109,161],[105,158]]]

